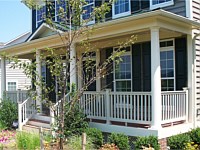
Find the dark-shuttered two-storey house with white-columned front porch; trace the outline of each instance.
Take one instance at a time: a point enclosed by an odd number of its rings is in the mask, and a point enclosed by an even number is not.
[[[56,1],[51,2],[59,8]],[[90,8],[101,2],[104,0],[88,1],[88,14]],[[41,6],[42,9],[32,10],[32,34],[26,42],[1,51],[35,59],[37,71],[48,78],[48,69],[42,67],[39,54],[46,47],[62,48],[63,43],[56,31],[43,22],[48,5]],[[59,22],[58,10],[51,11],[55,22]],[[133,34],[138,39],[126,48],[121,68],[102,80],[97,79],[92,91],[84,93],[84,111],[92,127],[129,136],[157,135],[160,141],[165,141],[200,125],[199,12],[199,0],[119,0],[112,4],[105,21],[90,37],[95,45],[95,62],[108,58],[118,41]],[[90,25],[94,23],[91,20]],[[36,57],[33,49],[37,49]],[[75,43],[71,57],[80,57],[82,52]],[[70,81],[80,88],[81,71],[70,73]],[[39,87],[36,89],[40,91]],[[53,96],[53,102],[57,102],[59,99]],[[89,103],[88,97],[93,97]],[[41,105],[39,101],[37,104]],[[20,105],[26,110],[25,103]],[[24,125],[34,111],[25,114],[22,110],[19,120]]]

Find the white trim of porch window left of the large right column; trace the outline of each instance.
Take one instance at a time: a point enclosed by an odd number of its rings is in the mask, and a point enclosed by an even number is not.
[[[125,52],[122,56],[126,56],[126,55],[129,55],[130,56],[130,58],[131,58],[131,78],[130,79],[116,79],[115,78],[115,66],[116,66],[116,64],[115,64],[115,62],[113,63],[113,70],[114,70],[114,73],[113,73],[113,82],[114,82],[114,84],[113,84],[113,86],[114,86],[114,92],[122,92],[122,91],[116,91],[116,81],[131,81],[131,91],[133,90],[133,84],[132,84],[132,81],[133,81],[133,77],[132,77],[132,65],[133,65],[133,62],[132,62],[132,46],[131,45],[129,45],[129,46],[127,46],[127,47],[130,47],[130,51],[129,52]],[[113,51],[116,49],[116,48],[119,48],[119,47],[113,47]],[[131,92],[130,91],[130,92]]]

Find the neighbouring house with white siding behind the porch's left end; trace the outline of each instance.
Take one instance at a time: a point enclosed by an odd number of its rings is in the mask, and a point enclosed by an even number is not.
[[[31,34],[30,32],[26,32],[6,43],[2,43],[2,44],[0,44],[0,49],[10,47],[10,46],[13,46],[16,44],[20,44],[20,43],[24,42],[28,38],[28,36],[30,36],[30,34]],[[28,62],[29,60],[24,59],[23,61]],[[5,63],[5,65],[2,65],[2,63]],[[1,83],[4,83],[5,89],[6,89],[6,91],[8,91],[7,97],[16,102],[15,97],[17,95],[17,90],[21,90],[21,93],[24,93],[23,95],[25,96],[26,94],[25,94],[24,90],[27,90],[30,88],[31,80],[26,77],[26,75],[23,73],[22,69],[11,68],[12,62],[1,61],[1,66],[5,66],[5,69],[6,69],[6,72],[3,72],[2,67],[1,67],[0,76],[3,76],[2,74],[6,73],[6,77],[4,79],[1,78],[1,79],[3,79],[3,81],[1,80]],[[0,97],[3,98],[4,94],[5,94],[4,91],[0,92]]]

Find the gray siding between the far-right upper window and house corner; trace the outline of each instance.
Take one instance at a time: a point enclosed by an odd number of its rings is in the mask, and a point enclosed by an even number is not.
[[[166,11],[186,17],[186,0],[174,0],[174,5],[163,8]]]

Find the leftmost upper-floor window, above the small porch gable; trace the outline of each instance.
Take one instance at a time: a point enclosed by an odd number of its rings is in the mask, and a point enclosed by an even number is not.
[[[46,6],[43,5],[36,10],[36,27],[38,27],[42,21],[45,19]]]

